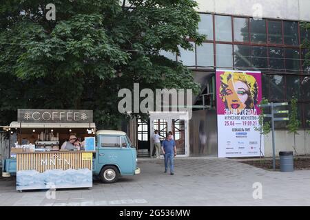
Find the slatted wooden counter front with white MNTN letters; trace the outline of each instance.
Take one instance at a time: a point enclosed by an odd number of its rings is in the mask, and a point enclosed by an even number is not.
[[[50,151],[17,153],[17,171],[84,169],[92,170],[92,153],[85,151]]]

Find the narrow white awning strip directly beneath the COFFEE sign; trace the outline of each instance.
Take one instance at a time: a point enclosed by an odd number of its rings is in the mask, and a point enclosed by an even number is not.
[[[26,123],[26,122],[11,122],[10,126],[5,126],[4,129],[94,129],[95,123]]]

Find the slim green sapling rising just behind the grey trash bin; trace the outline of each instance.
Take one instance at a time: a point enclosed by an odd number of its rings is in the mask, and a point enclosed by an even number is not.
[[[298,120],[298,109],[297,109],[297,98],[291,100],[291,111],[289,112],[289,123],[287,124],[287,129],[289,129],[289,133],[293,133],[294,135],[294,146],[293,149],[298,155],[296,151],[296,134],[298,134],[298,129],[300,127],[300,120]]]

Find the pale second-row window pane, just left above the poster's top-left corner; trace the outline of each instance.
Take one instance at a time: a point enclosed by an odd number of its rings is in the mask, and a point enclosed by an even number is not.
[[[196,46],[197,53],[197,66],[214,67],[214,45],[213,43],[203,43],[200,46]]]

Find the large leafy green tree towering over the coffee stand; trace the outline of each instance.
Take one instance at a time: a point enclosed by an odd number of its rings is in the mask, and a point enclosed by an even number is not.
[[[45,5],[54,3],[56,21]],[[131,7],[126,7],[130,5]],[[0,124],[19,108],[94,109],[99,128],[116,128],[118,90],[188,88],[192,72],[159,51],[198,45],[192,0],[3,0],[0,5]]]

